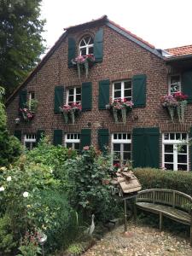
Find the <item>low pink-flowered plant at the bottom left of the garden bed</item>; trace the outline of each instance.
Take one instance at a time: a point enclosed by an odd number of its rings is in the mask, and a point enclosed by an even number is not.
[[[38,245],[38,233],[26,232],[23,240],[20,242],[20,253],[17,256],[37,256],[41,254],[41,248]]]

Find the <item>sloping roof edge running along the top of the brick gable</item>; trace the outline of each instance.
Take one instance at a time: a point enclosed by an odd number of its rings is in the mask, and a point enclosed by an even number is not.
[[[6,106],[9,104],[9,102],[11,102],[11,100],[15,97],[16,93],[23,87],[25,86],[35,75],[36,73],[38,73],[39,69],[41,67],[44,66],[44,63],[49,60],[49,57],[55,52],[55,50],[60,46],[61,42],[64,40],[64,38],[67,37],[68,32],[71,32],[73,30],[79,30],[79,29],[84,29],[84,27],[89,27],[89,26],[95,26],[97,24],[100,23],[105,23],[107,26],[109,26],[110,28],[112,28],[114,31],[119,32],[121,35],[125,36],[125,38],[130,39],[132,42],[140,45],[141,47],[143,47],[144,49],[147,49],[149,52],[151,52],[152,54],[163,58],[162,55],[158,52],[157,49],[154,48],[154,45],[149,44],[147,41],[143,40],[143,38],[139,38],[137,37],[137,35],[131,33],[130,31],[126,30],[124,27],[119,26],[118,24],[116,24],[115,22],[113,22],[112,20],[108,20],[108,16],[107,15],[103,15],[102,17],[100,17],[99,19],[96,20],[90,20],[88,22],[85,22],[83,24],[79,24],[76,26],[69,26],[67,28],[64,28],[64,30],[66,32],[64,32],[61,37],[55,42],[55,44],[53,45],[53,47],[51,49],[49,49],[49,52],[44,56],[44,58],[42,59],[42,61],[39,62],[38,66],[32,71],[32,73],[30,73],[28,75],[28,77],[26,78],[26,80],[20,84],[20,86],[18,86],[15,91],[11,94],[11,96],[9,96],[7,102],[6,102]]]

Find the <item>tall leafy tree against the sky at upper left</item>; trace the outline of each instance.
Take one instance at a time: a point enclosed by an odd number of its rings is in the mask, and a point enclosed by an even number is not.
[[[37,65],[44,52],[42,0],[0,1],[0,84],[6,95]]]

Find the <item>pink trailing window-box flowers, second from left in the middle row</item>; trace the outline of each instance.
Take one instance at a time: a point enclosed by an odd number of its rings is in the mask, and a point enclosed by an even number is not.
[[[69,121],[72,121],[72,123],[75,123],[75,118],[79,116],[81,113],[82,106],[81,103],[73,102],[72,104],[65,104],[63,107],[60,107],[60,111],[63,114],[63,117],[65,119],[66,124],[69,123]]]

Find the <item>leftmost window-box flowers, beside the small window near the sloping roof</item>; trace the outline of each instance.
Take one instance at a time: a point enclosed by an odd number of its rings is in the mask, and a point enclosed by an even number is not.
[[[29,102],[26,102],[25,108],[20,108],[20,113],[24,121],[31,121],[34,118],[37,107],[38,101],[32,99],[30,104]]]

